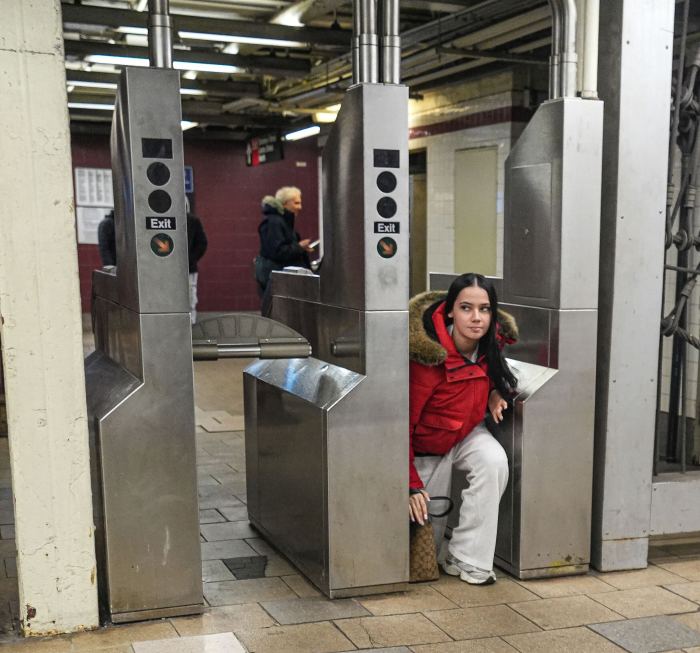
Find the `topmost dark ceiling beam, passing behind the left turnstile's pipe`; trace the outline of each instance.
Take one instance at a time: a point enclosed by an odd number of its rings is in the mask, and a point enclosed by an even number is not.
[[[87,5],[61,5],[64,23],[83,25],[105,25],[107,27],[146,27],[148,15],[128,9],[107,9]],[[330,45],[350,48],[349,30],[325,29],[320,27],[290,27],[270,23],[256,23],[244,20],[204,18],[171,13],[173,28],[183,32],[204,34],[228,34],[252,38],[300,41],[313,45]]]

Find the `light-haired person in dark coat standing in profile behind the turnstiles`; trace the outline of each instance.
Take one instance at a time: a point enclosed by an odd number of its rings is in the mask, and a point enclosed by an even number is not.
[[[311,269],[311,240],[302,240],[294,230],[294,221],[301,211],[301,191],[294,186],[280,188],[275,197],[262,200],[263,220],[258,226],[260,254],[255,259],[255,279],[262,297],[261,313],[270,311],[270,274],[288,266]]]

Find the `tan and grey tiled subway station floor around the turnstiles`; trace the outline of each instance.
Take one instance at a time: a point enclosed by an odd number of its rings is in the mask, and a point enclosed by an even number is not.
[[[86,350],[89,350],[89,337]],[[400,594],[330,601],[246,518],[241,370],[195,363],[202,578],[206,609],[179,617],[21,640],[7,440],[0,439],[0,653],[700,653],[700,543],[655,543],[648,569],[490,587],[452,577]],[[267,556],[260,577],[223,560]]]

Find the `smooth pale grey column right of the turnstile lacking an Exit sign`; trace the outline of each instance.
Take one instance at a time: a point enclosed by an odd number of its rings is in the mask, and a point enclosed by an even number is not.
[[[674,0],[600,3],[605,101],[592,562],[646,567]]]

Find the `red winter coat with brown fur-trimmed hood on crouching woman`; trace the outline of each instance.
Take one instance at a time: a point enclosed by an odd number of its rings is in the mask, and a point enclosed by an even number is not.
[[[433,307],[445,296],[429,291],[409,304],[409,487],[414,489],[423,487],[414,456],[442,456],[466,438],[484,419],[493,388],[485,355],[479,354],[474,363],[465,359],[447,330],[444,302]],[[498,338],[500,342],[517,338],[515,320],[500,310]]]

